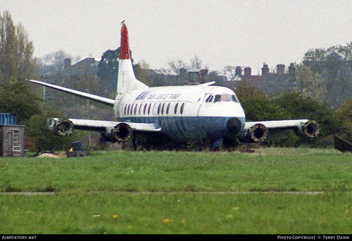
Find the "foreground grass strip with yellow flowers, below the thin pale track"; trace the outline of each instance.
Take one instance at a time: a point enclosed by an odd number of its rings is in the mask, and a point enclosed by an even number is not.
[[[352,195],[0,195],[6,234],[348,234]]]

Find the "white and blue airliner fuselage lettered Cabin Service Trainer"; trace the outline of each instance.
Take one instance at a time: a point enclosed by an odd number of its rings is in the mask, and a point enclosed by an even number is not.
[[[209,85],[133,90],[115,102],[114,112],[117,121],[157,124],[166,135],[183,142],[235,137],[245,125],[245,114],[235,93]],[[228,131],[230,118],[238,119],[235,133]]]

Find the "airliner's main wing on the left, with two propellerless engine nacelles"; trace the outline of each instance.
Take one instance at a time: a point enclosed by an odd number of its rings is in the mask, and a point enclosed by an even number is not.
[[[161,127],[157,124],[58,118],[48,119],[48,127],[61,136],[71,135],[74,129],[98,131],[107,141],[128,141],[132,139],[134,131],[161,131]]]

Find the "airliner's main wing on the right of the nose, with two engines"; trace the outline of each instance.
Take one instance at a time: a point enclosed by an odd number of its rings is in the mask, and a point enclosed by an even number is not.
[[[288,130],[293,129],[297,135],[304,137],[316,137],[319,134],[319,124],[315,121],[287,120],[287,121],[258,121],[246,122],[240,139],[244,141],[261,142],[269,134],[270,130]]]

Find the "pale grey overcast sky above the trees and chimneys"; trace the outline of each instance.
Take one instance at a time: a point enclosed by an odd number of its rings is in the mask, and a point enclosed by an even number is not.
[[[300,63],[310,48],[352,41],[351,0],[1,0],[24,25],[34,55],[63,50],[100,59],[120,44],[125,20],[135,62],[152,69],[197,55],[210,70],[225,65]]]

